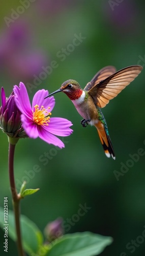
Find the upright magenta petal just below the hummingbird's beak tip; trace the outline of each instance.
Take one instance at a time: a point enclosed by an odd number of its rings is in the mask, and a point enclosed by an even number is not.
[[[33,102],[32,102],[33,110],[35,105],[39,105],[39,109],[41,108],[41,106],[44,106],[44,109],[47,109],[48,106],[50,106],[50,112],[52,111],[55,105],[55,99],[53,96],[50,98],[44,99],[47,95],[48,95],[48,91],[44,89],[39,90],[34,95]]]

